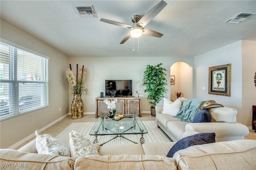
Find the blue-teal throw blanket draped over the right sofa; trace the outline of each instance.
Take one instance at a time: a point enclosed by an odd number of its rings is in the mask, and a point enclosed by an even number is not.
[[[192,122],[194,115],[198,112],[200,105],[203,100],[201,99],[188,99],[185,101],[183,106],[180,107],[175,117],[179,118],[180,121]]]

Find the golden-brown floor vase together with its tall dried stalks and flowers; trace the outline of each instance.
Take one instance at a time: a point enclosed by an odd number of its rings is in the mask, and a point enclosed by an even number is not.
[[[84,115],[84,104],[82,101],[82,94],[88,94],[88,89],[84,87],[84,82],[86,79],[86,71],[84,70],[84,65],[80,70],[78,70],[78,64],[76,64],[76,77],[74,76],[69,64],[69,68],[66,70],[66,76],[68,84],[71,86],[71,91],[69,95],[72,94],[74,99],[71,104],[71,114],[72,119],[78,119]]]

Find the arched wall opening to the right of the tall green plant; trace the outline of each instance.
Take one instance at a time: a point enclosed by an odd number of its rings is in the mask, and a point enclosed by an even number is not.
[[[170,99],[175,101],[177,99],[176,93],[181,92],[181,97],[190,99],[193,98],[193,71],[187,63],[176,62],[170,67]]]

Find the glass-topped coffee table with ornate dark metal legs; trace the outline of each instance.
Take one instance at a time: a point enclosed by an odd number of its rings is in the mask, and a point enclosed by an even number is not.
[[[143,137],[143,134],[145,133],[148,133],[148,130],[143,122],[140,120],[140,117],[138,117],[138,115],[124,115],[124,118],[120,119],[119,121],[110,119],[107,116],[99,117],[89,134],[95,136],[93,143],[98,143],[97,138],[98,136],[102,135],[116,135],[109,141],[112,141],[113,139],[116,139],[118,137],[122,137],[128,141],[131,141],[123,135],[141,135],[140,144],[142,145],[143,143],[145,143],[145,139]],[[100,146],[108,143],[109,141],[100,144]],[[136,143],[134,141],[131,142]]]

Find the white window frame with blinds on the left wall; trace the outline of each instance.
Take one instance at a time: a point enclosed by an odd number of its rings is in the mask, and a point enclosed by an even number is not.
[[[6,120],[6,119],[10,119],[10,118],[12,118],[12,117],[16,117],[16,116],[19,116],[19,115],[23,115],[23,114],[26,114],[26,113],[30,113],[30,112],[32,112],[32,111],[35,111],[35,110],[39,110],[39,109],[42,109],[42,108],[45,108],[45,107],[48,107],[49,106],[49,89],[48,89],[48,84],[49,84],[49,82],[48,82],[48,72],[49,72],[49,59],[50,59],[50,57],[47,57],[47,56],[45,56],[45,55],[42,55],[42,54],[40,54],[40,53],[37,53],[37,52],[35,52],[35,51],[32,51],[32,50],[30,50],[30,49],[27,49],[26,47],[22,47],[22,46],[20,46],[20,45],[17,45],[17,44],[15,44],[15,43],[12,43],[12,42],[10,42],[10,41],[7,41],[7,40],[5,40],[5,39],[2,39],[2,38],[0,38],[0,42],[1,43],[5,43],[6,45],[9,45],[9,46],[12,46],[12,47],[14,47],[14,51],[16,51],[16,54],[14,54],[14,55],[10,55],[10,53],[9,53],[9,57],[11,57],[12,56],[12,58],[14,58],[14,57],[18,57],[18,54],[17,54],[17,51],[18,50],[22,50],[22,51],[25,51],[25,52],[28,52],[28,53],[31,53],[32,55],[36,55],[36,56],[39,56],[39,57],[42,57],[42,58],[45,58],[46,60],[43,62],[43,63],[41,63],[42,64],[42,69],[43,69],[43,71],[44,71],[44,80],[42,79],[42,80],[40,80],[40,81],[34,81],[34,80],[32,80],[32,81],[29,81],[29,80],[26,80],[26,81],[24,81],[24,80],[18,80],[18,76],[17,76],[17,73],[18,73],[18,64],[17,64],[17,62],[12,62],[11,64],[9,63],[9,78],[8,79],[1,79],[0,80],[0,82],[1,83],[8,83],[8,86],[9,86],[9,89],[8,89],[8,91],[9,91],[9,94],[8,94],[8,102],[9,102],[9,104],[10,104],[10,100],[12,100],[12,103],[14,103],[14,105],[13,106],[9,106],[9,109],[10,108],[14,108],[14,110],[13,111],[10,111],[11,113],[8,113],[8,114],[10,114],[10,115],[8,115],[8,116],[6,116],[6,115],[2,115],[2,116],[0,116],[0,121],[3,121],[3,120]],[[34,57],[36,57],[36,56],[34,56]],[[9,59],[9,61],[10,61],[10,59]],[[47,64],[47,65],[46,65]],[[14,70],[14,72],[10,72],[10,70]],[[13,75],[13,77],[12,77],[12,75]],[[43,99],[46,99],[44,102],[45,102],[45,104],[43,105],[43,106],[40,106],[40,107],[36,107],[36,108],[32,108],[32,109],[29,109],[28,108],[28,110],[26,110],[26,111],[23,111],[23,112],[20,112],[20,101],[19,101],[19,98],[20,98],[20,94],[19,94],[19,84],[21,84],[21,83],[23,83],[24,84],[24,82],[27,84],[27,83],[36,83],[36,84],[44,84],[43,85],[43,90],[44,90],[44,92],[42,92],[41,94],[40,94],[40,98],[43,98]],[[16,87],[14,87],[14,86],[16,86]],[[11,89],[10,89],[11,88]],[[20,89],[21,90],[21,89]],[[21,90],[22,91],[22,90]],[[45,94],[45,96],[43,95],[43,94]],[[12,96],[14,96],[14,97],[12,97]],[[19,98],[17,97],[17,96],[19,96]]]

